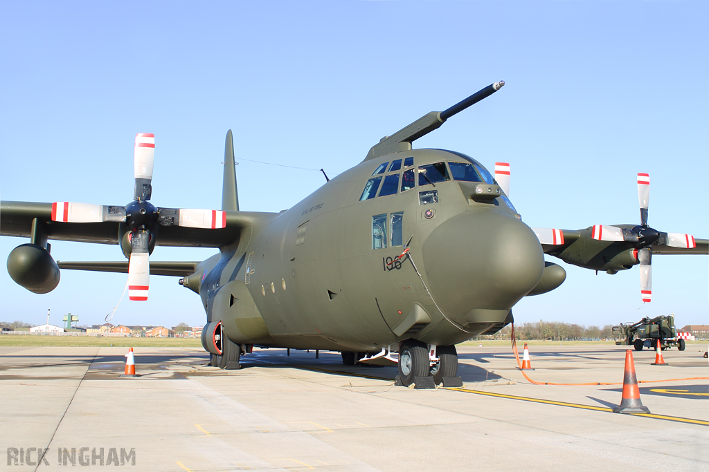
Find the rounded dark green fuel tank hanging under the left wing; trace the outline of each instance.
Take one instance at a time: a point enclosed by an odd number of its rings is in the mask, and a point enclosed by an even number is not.
[[[7,258],[7,271],[12,280],[35,294],[52,292],[61,277],[52,255],[38,244],[14,248]]]

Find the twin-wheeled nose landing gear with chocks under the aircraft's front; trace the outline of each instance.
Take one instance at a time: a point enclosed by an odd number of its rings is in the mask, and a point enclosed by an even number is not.
[[[426,345],[408,339],[399,347],[398,372],[399,381],[404,386],[431,383],[438,385],[444,382],[444,378],[451,379],[452,384],[453,379],[459,380],[458,353],[454,345]],[[462,382],[460,384],[462,385]]]

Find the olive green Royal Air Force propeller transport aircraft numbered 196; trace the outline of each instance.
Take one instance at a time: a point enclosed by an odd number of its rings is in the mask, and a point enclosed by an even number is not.
[[[566,272],[545,263],[545,253],[609,273],[640,264],[644,301],[652,254],[708,253],[707,240],[647,226],[647,174],[638,174],[639,225],[531,229],[508,198],[508,163],[493,176],[465,154],[412,149],[503,85],[382,138],[364,161],[280,213],[240,211],[231,131],[221,209],[153,206],[155,137],[140,133],[125,207],[1,202],[0,234],[30,238],[10,253],[9,273],[47,293],[60,269],[127,272],[132,300],[147,299],[151,274],[179,276],[201,297],[202,344],[215,367],[238,368],[253,345],[333,350],[345,364],[398,363],[411,385],[454,378],[456,343],[496,333],[522,297],[559,287]],[[129,260],[57,264],[49,239],[118,244]],[[219,253],[200,263],[152,262],[155,245]]]

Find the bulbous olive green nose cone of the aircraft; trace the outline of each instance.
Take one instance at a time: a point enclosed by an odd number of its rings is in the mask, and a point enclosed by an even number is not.
[[[464,326],[503,322],[544,272],[542,246],[529,226],[487,209],[440,224],[423,244],[423,259],[437,304]]]

